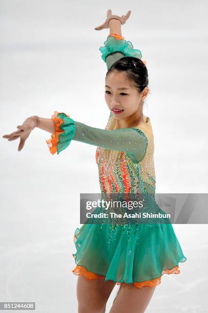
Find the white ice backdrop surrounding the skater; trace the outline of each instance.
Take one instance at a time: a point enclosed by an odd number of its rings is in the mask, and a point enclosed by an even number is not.
[[[80,193],[99,193],[95,146],[72,141],[59,155],[35,129],[22,151],[2,136],[31,115],[65,112],[105,128],[106,63],[99,47],[113,14],[132,14],[122,35],[147,62],[144,114],[154,132],[158,193],[207,192],[207,2],[1,0],[0,301],[38,312],[76,312],[73,234]],[[173,225],[187,261],[163,275],[146,312],[205,312],[207,225]],[[108,301],[108,310],[118,290]],[[200,291],[199,291],[200,290]],[[60,308],[61,306],[61,308]],[[107,311],[108,311],[107,310]]]

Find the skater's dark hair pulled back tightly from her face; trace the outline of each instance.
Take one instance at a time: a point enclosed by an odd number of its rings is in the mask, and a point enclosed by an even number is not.
[[[139,58],[125,56],[117,60],[106,73],[106,77],[114,70],[125,72],[127,78],[134,82],[139,93],[141,93],[149,83],[146,65]]]

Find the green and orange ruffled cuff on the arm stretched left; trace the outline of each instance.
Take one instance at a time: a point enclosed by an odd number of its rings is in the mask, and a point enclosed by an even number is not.
[[[76,128],[74,121],[65,113],[55,111],[51,117],[55,125],[55,135],[46,140],[50,153],[59,154],[62,150],[66,149],[74,137]]]

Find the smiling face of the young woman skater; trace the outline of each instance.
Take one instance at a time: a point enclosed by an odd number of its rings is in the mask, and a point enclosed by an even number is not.
[[[113,71],[107,75],[105,100],[116,119],[132,116],[140,109],[142,113],[142,97],[145,98],[124,72]],[[122,111],[116,111],[118,109]]]

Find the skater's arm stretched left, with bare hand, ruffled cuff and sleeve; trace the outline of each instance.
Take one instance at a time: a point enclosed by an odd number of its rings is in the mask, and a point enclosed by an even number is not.
[[[66,149],[71,140],[80,141],[105,149],[126,152],[134,162],[142,161],[146,154],[148,139],[139,128],[120,128],[114,130],[100,129],[72,120],[69,115],[55,111],[51,119],[32,116],[18,125],[17,131],[3,138],[9,141],[20,138],[18,151],[20,151],[29,137],[31,131],[38,127],[51,133],[46,140],[52,154],[60,153]]]

